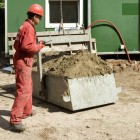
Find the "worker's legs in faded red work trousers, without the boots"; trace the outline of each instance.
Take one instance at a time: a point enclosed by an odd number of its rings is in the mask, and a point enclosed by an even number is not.
[[[11,111],[10,123],[18,124],[22,121],[22,116],[24,112],[24,108],[26,108],[26,112],[30,112],[32,109],[32,87],[31,87],[31,67],[17,67],[16,70],[16,97]],[[31,107],[29,107],[31,106]]]

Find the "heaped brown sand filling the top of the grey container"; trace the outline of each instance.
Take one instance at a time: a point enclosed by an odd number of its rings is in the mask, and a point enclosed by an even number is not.
[[[74,55],[46,55],[43,58],[43,72],[47,75],[78,78],[110,74],[112,69],[97,55],[79,51]]]

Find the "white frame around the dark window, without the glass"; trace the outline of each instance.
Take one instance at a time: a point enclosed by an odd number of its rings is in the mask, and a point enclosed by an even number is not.
[[[49,1],[60,1],[60,0],[45,0],[45,28],[59,28],[60,23],[50,23],[49,18]],[[69,0],[63,0],[69,1]],[[78,24],[83,24],[83,0],[71,0],[78,1]],[[62,6],[63,7],[63,6]],[[64,28],[75,28],[76,23],[63,23]]]

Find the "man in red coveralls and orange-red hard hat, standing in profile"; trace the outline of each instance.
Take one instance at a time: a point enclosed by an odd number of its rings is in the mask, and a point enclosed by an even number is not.
[[[32,65],[33,57],[43,47],[42,41],[38,42],[35,25],[38,25],[43,16],[43,7],[33,4],[27,12],[28,19],[19,28],[14,48],[13,58],[16,77],[16,96],[10,114],[11,130],[23,132],[26,126],[22,119],[35,115],[32,110]]]

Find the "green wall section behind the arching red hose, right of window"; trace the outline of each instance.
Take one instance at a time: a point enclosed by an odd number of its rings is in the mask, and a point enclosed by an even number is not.
[[[138,6],[138,0],[92,0],[91,21],[107,20],[112,22],[120,31],[128,51],[138,51],[139,14],[136,14],[137,10],[133,12],[133,15],[132,13],[122,14],[124,4],[129,4],[134,8],[136,5]],[[126,13],[128,11],[125,10]],[[92,27],[91,32],[92,37],[96,38],[98,52],[119,51],[121,44],[119,36],[109,24],[100,22]]]

